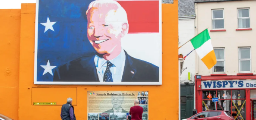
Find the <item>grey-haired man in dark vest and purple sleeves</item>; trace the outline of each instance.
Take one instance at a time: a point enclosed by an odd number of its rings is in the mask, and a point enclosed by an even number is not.
[[[72,98],[67,98],[67,104],[61,107],[61,120],[76,120]]]

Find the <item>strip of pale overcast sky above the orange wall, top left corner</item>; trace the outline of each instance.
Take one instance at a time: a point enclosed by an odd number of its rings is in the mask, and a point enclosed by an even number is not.
[[[36,3],[36,0],[0,0],[0,9],[20,9],[21,3]]]

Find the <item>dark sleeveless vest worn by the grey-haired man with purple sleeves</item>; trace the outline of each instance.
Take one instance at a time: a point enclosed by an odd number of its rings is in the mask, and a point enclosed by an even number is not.
[[[71,107],[73,108],[74,120],[76,120],[74,107],[70,103],[64,104],[61,107],[62,120],[70,120],[69,109]]]

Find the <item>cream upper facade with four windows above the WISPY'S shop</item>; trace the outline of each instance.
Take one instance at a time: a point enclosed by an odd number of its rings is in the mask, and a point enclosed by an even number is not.
[[[195,0],[195,12],[196,33],[208,28],[217,57],[217,64],[208,70],[196,55],[196,74],[255,74],[256,1]]]

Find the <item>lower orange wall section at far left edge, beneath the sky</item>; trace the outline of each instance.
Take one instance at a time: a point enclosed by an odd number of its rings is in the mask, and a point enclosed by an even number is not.
[[[0,113],[18,119],[20,9],[0,10]]]

